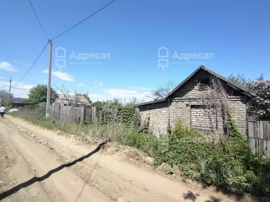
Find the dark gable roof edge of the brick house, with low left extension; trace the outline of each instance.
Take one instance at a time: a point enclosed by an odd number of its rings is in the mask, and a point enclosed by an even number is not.
[[[205,70],[207,72],[209,72],[210,74],[217,76],[218,78],[220,78],[221,80],[225,81],[225,83],[227,83],[227,85],[231,86],[232,88],[234,88],[235,90],[240,91],[241,93],[243,93],[244,95],[247,95],[248,97],[253,97],[255,96],[255,93],[252,92],[251,90],[245,88],[244,86],[241,86],[233,81],[231,81],[230,79],[227,79],[219,74],[217,74],[216,72],[211,71],[210,69],[207,69],[204,66],[200,66],[198,69],[196,69],[191,75],[189,75],[184,81],[182,81],[178,86],[176,86],[176,88],[174,88],[166,97],[165,99],[161,99],[161,100],[155,100],[152,102],[144,102],[144,103],[140,103],[138,105],[135,106],[142,106],[142,105],[147,105],[147,104],[152,104],[152,103],[156,103],[156,102],[163,102],[166,99],[170,98],[171,95],[173,95],[173,93],[175,93],[179,88],[181,88],[186,82],[188,82],[198,71],[200,70]]]

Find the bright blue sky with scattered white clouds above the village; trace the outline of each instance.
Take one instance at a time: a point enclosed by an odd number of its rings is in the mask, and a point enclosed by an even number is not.
[[[31,2],[45,32],[54,38],[110,0]],[[269,1],[261,0],[116,0],[53,41],[52,86],[62,86],[65,79],[66,88],[83,93],[89,90],[93,100],[132,96],[141,99],[169,79],[183,81],[200,62],[226,77],[244,74],[254,79],[262,73],[269,78],[269,7]],[[19,81],[48,39],[28,1],[1,1],[0,8],[0,75]],[[66,49],[66,67],[61,70],[55,66],[55,49],[60,46]],[[158,67],[158,48],[163,46],[168,48],[169,65],[162,70]],[[86,61],[69,59],[72,51],[76,57],[79,53],[110,56]],[[179,57],[181,53],[213,53],[213,56],[188,61],[172,59],[175,51]],[[12,89],[15,96],[27,97],[31,86],[47,82],[48,59],[49,46],[25,76],[29,81],[22,80],[16,85],[26,90]],[[6,76],[0,76],[0,86],[8,85]]]

